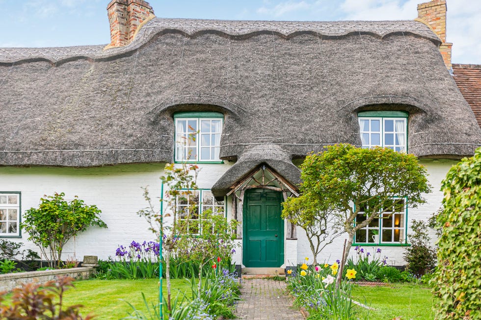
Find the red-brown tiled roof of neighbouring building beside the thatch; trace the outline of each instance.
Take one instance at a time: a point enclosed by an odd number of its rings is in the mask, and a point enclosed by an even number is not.
[[[481,127],[481,65],[453,64],[454,81]]]

